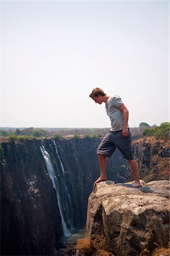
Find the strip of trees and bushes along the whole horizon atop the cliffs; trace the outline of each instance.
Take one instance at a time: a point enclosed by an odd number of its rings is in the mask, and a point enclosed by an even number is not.
[[[33,138],[103,138],[109,132],[109,128],[8,128],[0,127],[0,139],[2,141],[22,141]],[[141,122],[139,127],[130,127],[132,139],[142,136],[152,136],[160,139],[169,138],[169,123],[164,122],[160,126],[150,126]]]

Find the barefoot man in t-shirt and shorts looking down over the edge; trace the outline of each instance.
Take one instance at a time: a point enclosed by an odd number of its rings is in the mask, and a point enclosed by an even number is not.
[[[105,135],[97,148],[97,155],[100,164],[100,177],[95,181],[95,184],[99,183],[100,181],[107,180],[107,157],[109,158],[117,147],[118,150],[121,151],[124,158],[129,161],[131,169],[133,170],[135,179],[133,187],[141,187],[138,165],[131,150],[131,134],[128,126],[128,109],[119,96],[108,96],[101,88],[98,87],[92,90],[90,97],[98,104],[105,102],[105,109],[109,118],[111,119],[112,126],[111,131]]]

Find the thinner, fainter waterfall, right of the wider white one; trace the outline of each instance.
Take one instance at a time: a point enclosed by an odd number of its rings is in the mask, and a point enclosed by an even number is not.
[[[70,229],[73,230],[74,229],[74,224],[73,224],[73,207],[72,207],[72,204],[71,204],[71,197],[70,197],[69,189],[67,188],[67,184],[66,184],[65,170],[63,168],[63,164],[61,162],[61,158],[60,158],[60,156],[58,154],[56,142],[54,141],[54,139],[52,141],[53,141],[54,146],[56,148],[56,154],[57,154],[59,163],[61,165],[61,170],[62,170],[61,176],[62,176],[62,184],[63,185],[61,187],[61,190],[62,190],[62,200],[63,200],[64,205],[66,206],[66,208],[65,208],[66,209],[66,219],[69,222],[68,224],[70,226]]]

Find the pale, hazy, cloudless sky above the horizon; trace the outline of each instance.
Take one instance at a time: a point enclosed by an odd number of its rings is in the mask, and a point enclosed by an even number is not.
[[[129,126],[169,120],[168,1],[0,1],[1,127],[110,127],[100,87]]]

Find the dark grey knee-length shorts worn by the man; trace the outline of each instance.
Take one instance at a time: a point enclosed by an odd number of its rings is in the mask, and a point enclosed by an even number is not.
[[[122,135],[122,130],[120,131],[109,131],[107,135],[100,142],[99,147],[97,148],[97,154],[105,155],[108,158],[111,157],[114,150],[118,148],[122,156],[126,160],[133,160],[133,152],[131,148],[131,134],[128,129],[128,136],[124,137]]]

